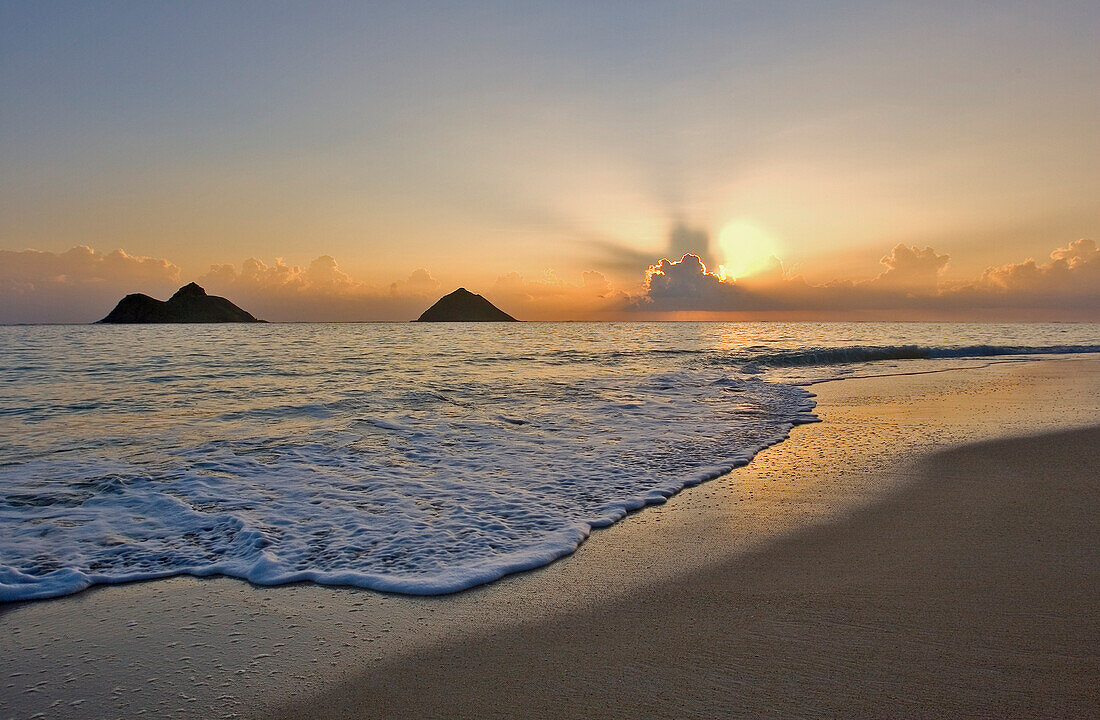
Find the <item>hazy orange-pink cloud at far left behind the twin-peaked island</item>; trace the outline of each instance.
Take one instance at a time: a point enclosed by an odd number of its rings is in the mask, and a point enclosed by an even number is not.
[[[123,295],[156,296],[177,287],[174,264],[122,250],[0,251],[0,322],[90,322]]]

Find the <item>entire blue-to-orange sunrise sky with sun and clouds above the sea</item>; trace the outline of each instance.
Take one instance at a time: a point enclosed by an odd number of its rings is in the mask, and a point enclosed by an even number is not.
[[[1100,320],[1100,3],[0,2],[0,322]]]

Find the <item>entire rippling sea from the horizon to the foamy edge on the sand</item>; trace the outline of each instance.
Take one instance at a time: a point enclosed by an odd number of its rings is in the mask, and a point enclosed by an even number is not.
[[[1096,324],[0,326],[0,600],[451,592],[744,465],[814,381],[1097,352]]]

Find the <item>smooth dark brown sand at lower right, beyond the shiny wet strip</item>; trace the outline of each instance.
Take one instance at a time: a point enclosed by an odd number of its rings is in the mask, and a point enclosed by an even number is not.
[[[1097,717],[1100,428],[915,472],[844,521],[415,654],[285,717]]]

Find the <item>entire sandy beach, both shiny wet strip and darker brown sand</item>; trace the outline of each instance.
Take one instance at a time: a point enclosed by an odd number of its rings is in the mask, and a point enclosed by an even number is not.
[[[1089,717],[1100,363],[821,423],[454,596],[172,578],[0,610],[0,717]]]

